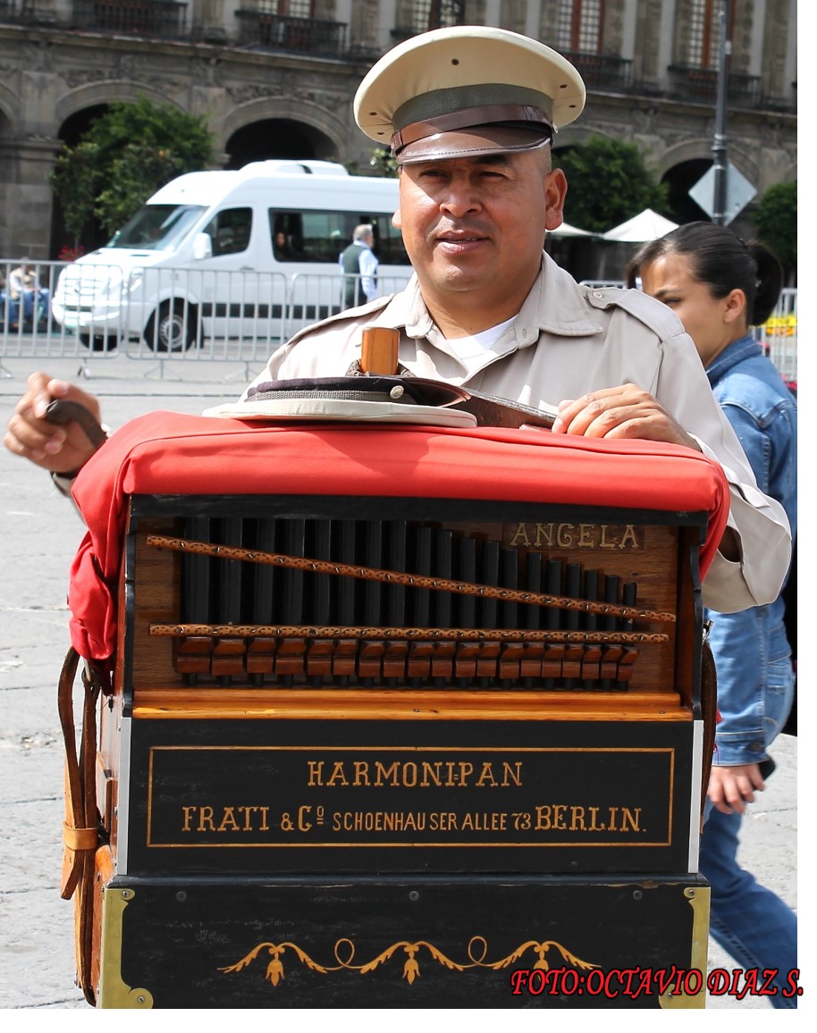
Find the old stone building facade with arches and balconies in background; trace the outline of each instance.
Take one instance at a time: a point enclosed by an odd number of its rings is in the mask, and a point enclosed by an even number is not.
[[[635,142],[679,220],[712,163],[719,0],[0,0],[0,256],[66,243],[49,187],[64,143],[145,94],[205,116],[214,167],[312,157],[366,170],[351,102],[396,42],[466,23],[566,54],[588,104],[556,149]],[[796,179],[796,0],[730,0],[729,160],[757,195]],[[599,174],[603,186],[603,169]],[[700,213],[698,213],[700,215]],[[567,211],[569,220],[569,207]]]

